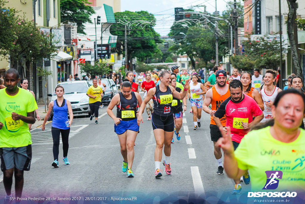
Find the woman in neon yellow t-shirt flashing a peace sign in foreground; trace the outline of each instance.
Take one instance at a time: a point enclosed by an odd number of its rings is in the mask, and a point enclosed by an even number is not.
[[[305,171],[302,155],[305,131],[299,128],[305,113],[304,104],[305,95],[300,91],[287,89],[280,92],[271,107],[274,124],[249,132],[235,151],[230,129],[227,134],[222,131],[222,138],[217,144],[226,155],[224,169],[228,177],[239,179],[249,169],[251,191],[264,191],[262,189],[268,184],[265,171],[274,173],[280,166],[290,170],[280,169],[283,171],[282,179],[275,191],[304,192]],[[285,161],[285,164],[279,165],[277,161]]]

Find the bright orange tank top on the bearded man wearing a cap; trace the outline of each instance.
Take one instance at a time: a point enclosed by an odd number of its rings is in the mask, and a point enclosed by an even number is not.
[[[229,87],[228,87],[228,91],[227,93],[225,93],[224,95],[220,95],[217,91],[216,91],[216,88],[215,86],[212,87],[212,91],[213,91],[213,96],[212,96],[212,101],[211,101],[211,104],[212,104],[212,110],[217,110],[220,106],[220,104],[227,98],[229,98],[231,96],[230,94],[230,90],[229,90]],[[221,121],[221,124],[222,126],[226,126],[226,121],[227,121],[227,118],[224,116],[220,119]],[[213,116],[211,116],[211,122],[210,124],[212,125],[216,125],[215,121],[213,120]]]

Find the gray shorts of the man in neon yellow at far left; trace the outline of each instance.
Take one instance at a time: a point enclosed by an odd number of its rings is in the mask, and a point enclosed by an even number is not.
[[[16,167],[21,171],[30,171],[32,145],[24,147],[0,148],[1,171]]]

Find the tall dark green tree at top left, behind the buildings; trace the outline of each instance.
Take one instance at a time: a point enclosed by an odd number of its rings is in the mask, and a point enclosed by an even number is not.
[[[60,20],[77,23],[77,33],[84,32],[85,23],[92,23],[90,16],[95,14],[92,4],[88,0],[60,0]]]

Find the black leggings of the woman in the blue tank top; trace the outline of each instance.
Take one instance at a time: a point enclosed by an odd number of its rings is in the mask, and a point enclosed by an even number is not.
[[[66,157],[68,155],[68,149],[69,149],[70,128],[63,130],[52,127],[51,132],[53,138],[53,157],[54,160],[57,159],[58,161],[60,133],[61,133],[61,140],[63,141],[63,157]]]

